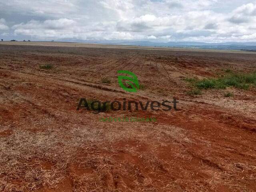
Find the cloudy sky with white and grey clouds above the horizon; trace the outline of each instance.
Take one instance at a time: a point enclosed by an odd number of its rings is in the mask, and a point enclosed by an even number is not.
[[[256,0],[0,0],[0,38],[256,42]]]

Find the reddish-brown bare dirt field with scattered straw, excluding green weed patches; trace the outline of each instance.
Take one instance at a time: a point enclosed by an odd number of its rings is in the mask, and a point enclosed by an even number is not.
[[[0,191],[256,191],[255,88],[228,88],[230,98],[227,90],[186,94],[185,77],[216,77],[225,68],[251,72],[256,55],[0,45]],[[117,70],[134,72],[145,88],[124,92]],[[76,110],[80,98],[174,96],[178,111]],[[99,122],[109,116],[158,121]]]

